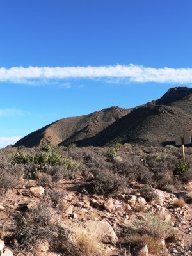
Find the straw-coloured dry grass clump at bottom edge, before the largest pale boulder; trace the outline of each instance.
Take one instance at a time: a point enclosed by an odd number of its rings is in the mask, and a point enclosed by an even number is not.
[[[103,256],[102,247],[96,237],[86,232],[76,232],[65,244],[67,255],[72,256]]]

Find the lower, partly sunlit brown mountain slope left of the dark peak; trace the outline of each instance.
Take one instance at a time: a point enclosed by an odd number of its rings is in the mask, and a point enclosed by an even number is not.
[[[90,138],[129,113],[129,111],[129,109],[111,107],[89,115],[63,118],[28,134],[17,141],[14,146],[24,145],[26,147],[33,147],[43,141],[49,141],[52,145],[58,145],[62,141],[65,141],[65,144],[67,144],[84,138]]]

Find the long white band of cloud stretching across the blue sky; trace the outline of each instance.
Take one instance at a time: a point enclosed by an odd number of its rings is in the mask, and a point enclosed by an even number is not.
[[[12,67],[0,68],[0,82],[46,83],[71,78],[124,78],[136,83],[192,83],[192,68],[150,68],[139,65],[99,67]]]

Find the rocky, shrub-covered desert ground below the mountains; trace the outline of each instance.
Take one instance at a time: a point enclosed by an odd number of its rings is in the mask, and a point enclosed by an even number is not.
[[[0,150],[1,255],[192,255],[192,148]]]

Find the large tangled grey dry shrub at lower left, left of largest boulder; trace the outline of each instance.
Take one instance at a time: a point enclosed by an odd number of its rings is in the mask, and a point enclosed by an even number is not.
[[[58,243],[58,235],[61,230],[58,226],[58,215],[46,202],[40,202],[35,208],[13,218],[14,225],[9,231],[19,242],[22,250],[32,250],[34,244],[48,241],[51,247]]]

